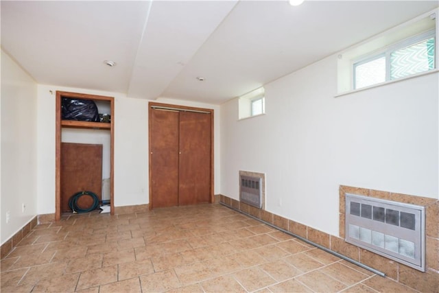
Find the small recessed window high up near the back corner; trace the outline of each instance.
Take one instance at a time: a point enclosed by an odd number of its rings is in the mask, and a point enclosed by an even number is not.
[[[265,91],[255,89],[239,97],[239,119],[265,114]]]

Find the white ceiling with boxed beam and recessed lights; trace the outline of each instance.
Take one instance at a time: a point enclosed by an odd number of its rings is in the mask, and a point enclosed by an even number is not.
[[[40,84],[221,104],[436,7],[437,0],[1,1],[1,47]]]

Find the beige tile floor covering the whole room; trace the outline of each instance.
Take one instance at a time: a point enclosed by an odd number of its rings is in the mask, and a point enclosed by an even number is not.
[[[1,292],[415,292],[220,204],[64,215],[1,259]]]

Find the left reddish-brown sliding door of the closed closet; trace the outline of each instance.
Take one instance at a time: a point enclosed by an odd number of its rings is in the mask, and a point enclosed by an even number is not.
[[[178,111],[150,110],[152,207],[178,204]]]

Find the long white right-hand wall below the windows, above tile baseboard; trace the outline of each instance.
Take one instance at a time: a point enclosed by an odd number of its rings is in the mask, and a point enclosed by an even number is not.
[[[438,75],[335,98],[331,56],[265,85],[266,115],[222,106],[221,192],[266,174],[266,209],[338,235],[339,186],[438,198]]]

